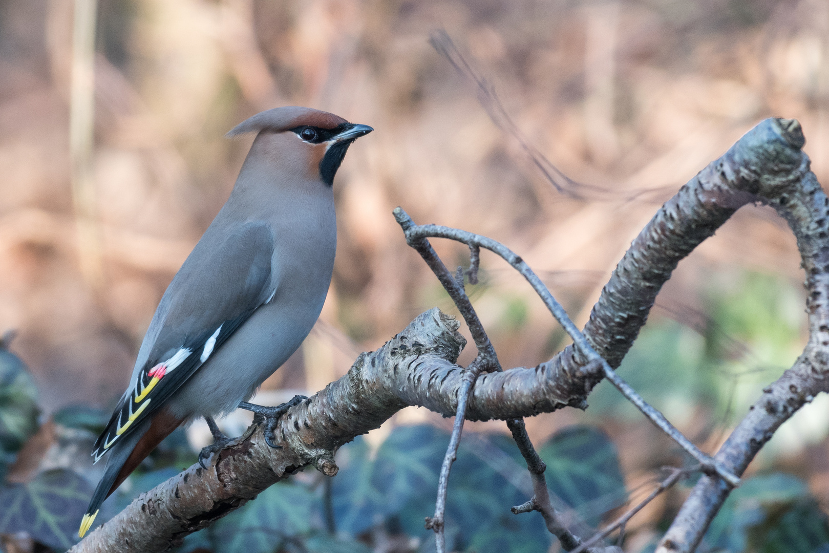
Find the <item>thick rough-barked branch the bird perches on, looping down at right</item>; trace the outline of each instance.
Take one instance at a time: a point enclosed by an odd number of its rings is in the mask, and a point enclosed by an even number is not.
[[[739,206],[774,206],[797,236],[807,270],[811,334],[795,366],[767,388],[716,455],[738,475],[784,420],[827,389],[829,199],[809,171],[803,142],[797,121],[766,119],[691,179],[633,241],[584,328],[589,345],[617,367],[676,264]],[[329,476],[337,473],[337,448],[406,405],[454,415],[463,386],[463,369],[455,361],[465,345],[457,329],[458,322],[437,309],[420,315],[376,352],[361,354],[347,376],[289,410],[279,422],[282,449],[264,444],[254,424],[214,456],[211,468],[194,465],[143,494],[71,551],[165,551],[309,465]],[[588,361],[570,346],[536,367],[483,374],[466,418],[511,420],[565,406],[584,409],[605,374],[585,370]],[[659,551],[693,551],[729,491],[720,478],[701,478]]]

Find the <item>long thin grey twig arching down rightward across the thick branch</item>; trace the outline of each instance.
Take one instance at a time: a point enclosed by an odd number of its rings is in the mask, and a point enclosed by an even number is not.
[[[665,418],[665,415],[662,415],[662,413],[658,410],[654,409],[651,405],[648,405],[647,402],[642,399],[642,396],[638,395],[636,390],[633,390],[633,388],[628,385],[628,383],[624,381],[621,376],[616,374],[616,371],[613,371],[613,368],[608,365],[608,362],[605,361],[603,357],[599,356],[599,353],[597,353],[590,345],[587,338],[584,337],[584,334],[582,334],[579,329],[575,327],[573,321],[571,321],[570,317],[567,315],[565,308],[561,307],[561,304],[553,297],[553,294],[550,293],[550,290],[547,289],[543,282],[541,282],[541,279],[538,278],[530,266],[526,264],[520,256],[516,255],[515,252],[496,240],[492,240],[486,236],[476,235],[466,230],[458,230],[438,225],[414,225],[414,222],[411,220],[410,216],[400,207],[395,208],[394,214],[398,224],[403,227],[406,240],[410,245],[419,243],[426,237],[447,238],[449,240],[456,240],[466,245],[477,245],[479,248],[484,248],[485,250],[490,250],[493,253],[500,255],[503,260],[506,260],[507,263],[511,264],[512,267],[521,273],[527,282],[530,283],[532,288],[541,297],[541,300],[550,310],[550,313],[552,313],[553,317],[555,317],[555,320],[558,321],[562,327],[564,327],[565,331],[573,339],[575,346],[579,348],[584,357],[587,357],[587,361],[596,361],[596,363],[600,363],[604,372],[604,377],[607,378],[613,386],[616,386],[616,388],[622,392],[622,395],[624,395],[628,401],[633,403],[633,405],[636,405],[638,410],[642,411],[642,414],[651,420],[653,424],[656,424],[659,429],[662,429],[662,432],[670,436],[671,439],[679,444],[682,449],[685,449],[691,457],[695,458],[702,465],[702,471],[704,473],[717,474],[730,486],[739,486],[739,478],[734,475],[734,473],[731,473],[722,465],[722,463],[714,458],[711,458],[709,455],[698,449],[696,445],[691,443],[691,440],[687,439],[684,434],[677,430],[676,427]],[[585,367],[585,369],[586,368],[587,367]]]

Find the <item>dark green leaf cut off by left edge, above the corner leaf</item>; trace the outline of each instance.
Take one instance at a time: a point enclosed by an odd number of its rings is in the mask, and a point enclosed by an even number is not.
[[[37,431],[37,389],[19,357],[0,342],[0,477]]]

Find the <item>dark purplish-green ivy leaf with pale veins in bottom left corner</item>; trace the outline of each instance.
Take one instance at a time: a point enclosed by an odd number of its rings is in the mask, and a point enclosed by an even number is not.
[[[0,488],[0,533],[26,531],[35,541],[65,551],[77,540],[91,497],[90,484],[65,468]]]

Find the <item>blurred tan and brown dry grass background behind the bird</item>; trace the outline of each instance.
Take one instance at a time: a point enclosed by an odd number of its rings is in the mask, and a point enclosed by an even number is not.
[[[100,0],[96,286],[79,269],[70,196],[71,10],[68,0],[0,2],[0,329],[19,330],[13,349],[46,413],[120,395],[158,300],[249,146],[223,134],[261,109],[308,105],[376,129],[337,175],[337,262],[321,321],[270,390],[318,390],[417,313],[453,311],[406,247],[397,205],[509,245],[583,324],[659,203],[760,119],[799,119],[829,182],[823,0]],[[522,133],[570,177],[612,189],[609,200],[555,192],[429,46],[441,27]],[[659,190],[631,199],[641,188]],[[451,263],[466,258],[436,246]],[[486,257],[483,268],[476,304],[505,366],[564,345],[516,275]],[[802,279],[793,236],[762,208],[739,211],[683,261],[660,302],[699,308],[710,275],[746,268]],[[539,417],[531,433],[580,416]],[[632,484],[657,466],[665,444],[647,424],[604,424]],[[819,448],[810,451],[825,457]],[[803,463],[816,491],[829,488],[825,462]]]

